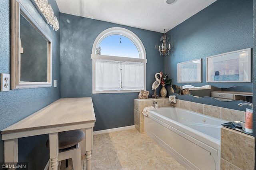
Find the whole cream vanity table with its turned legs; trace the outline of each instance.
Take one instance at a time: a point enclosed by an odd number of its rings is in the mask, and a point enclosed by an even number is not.
[[[49,134],[50,159],[54,161],[52,163],[50,161],[50,167],[56,169],[58,167],[55,160],[58,157],[58,132],[83,129],[86,137],[84,143],[81,142],[81,149],[84,148],[86,152],[87,169],[90,169],[95,121],[91,97],[59,99],[1,131],[2,140],[4,140],[4,161],[18,162],[18,138]]]

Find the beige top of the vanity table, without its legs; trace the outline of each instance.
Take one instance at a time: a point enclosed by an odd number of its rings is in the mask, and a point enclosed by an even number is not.
[[[95,122],[91,97],[63,98],[3,129],[4,134]]]

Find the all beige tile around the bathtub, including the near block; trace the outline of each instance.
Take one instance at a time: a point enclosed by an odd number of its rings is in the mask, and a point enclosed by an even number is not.
[[[139,132],[144,132],[144,107],[152,106],[155,99],[134,100],[134,124]],[[161,99],[160,99],[161,100]],[[162,99],[163,107],[170,106],[168,99]],[[156,100],[155,100],[156,101]],[[158,104],[158,107],[160,105]],[[162,105],[161,105],[162,106]],[[234,109],[226,109],[212,105],[204,105],[190,101],[178,100],[175,107],[198,112],[204,115],[216,117],[226,121],[245,119],[245,112]],[[140,128],[141,127],[141,128]],[[143,131],[142,131],[143,130]],[[221,128],[221,170],[254,170],[255,139],[253,136],[232,130]]]

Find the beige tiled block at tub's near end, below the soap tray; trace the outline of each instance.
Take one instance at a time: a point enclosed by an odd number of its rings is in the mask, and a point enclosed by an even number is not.
[[[221,170],[254,170],[255,138],[236,130],[221,128]]]

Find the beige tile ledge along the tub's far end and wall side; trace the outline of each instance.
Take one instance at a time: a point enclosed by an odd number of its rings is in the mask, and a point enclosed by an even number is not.
[[[145,107],[152,106],[153,101],[157,101],[158,107],[169,107],[172,105],[167,97],[158,99],[134,99],[134,125],[139,132],[144,132],[144,115],[142,111]],[[245,111],[204,105],[179,99],[177,99],[177,103],[174,103],[174,106],[230,122],[245,120]]]

